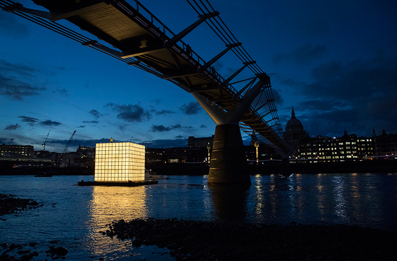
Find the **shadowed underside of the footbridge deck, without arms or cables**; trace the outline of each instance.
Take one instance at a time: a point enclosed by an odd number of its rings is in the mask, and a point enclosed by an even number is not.
[[[200,71],[203,64],[191,56],[189,50],[173,44],[164,47],[170,40],[164,31],[153,25],[124,0],[34,0],[53,13],[70,14],[66,19],[84,31],[95,35],[121,52],[121,57],[133,57],[154,69],[162,78],[183,85],[188,92],[199,92],[209,102],[228,110],[240,99],[233,97],[234,88],[219,89],[221,80],[210,70]],[[261,116],[250,107],[241,122],[268,139],[282,151],[287,149],[283,140]]]

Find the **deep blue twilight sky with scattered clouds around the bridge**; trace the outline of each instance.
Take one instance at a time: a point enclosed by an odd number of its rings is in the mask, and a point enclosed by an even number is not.
[[[197,20],[185,0],[141,3],[175,33]],[[377,134],[397,132],[396,1],[211,4],[271,77],[283,128],[294,106],[310,136],[340,137],[344,130],[371,136],[372,126]],[[206,61],[224,48],[206,24],[183,41]],[[62,152],[74,130],[69,151],[79,142],[95,146],[132,135],[149,147],[178,147],[188,136],[215,132],[215,123],[179,87],[4,11],[0,46],[0,144],[33,143],[40,150],[51,129],[50,151]],[[228,77],[241,62],[228,54],[214,67]],[[251,76],[246,70],[241,77]]]

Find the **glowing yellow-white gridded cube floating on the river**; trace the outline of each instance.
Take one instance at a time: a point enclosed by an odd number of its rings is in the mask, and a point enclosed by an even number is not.
[[[131,142],[97,143],[95,181],[145,180],[145,146]]]

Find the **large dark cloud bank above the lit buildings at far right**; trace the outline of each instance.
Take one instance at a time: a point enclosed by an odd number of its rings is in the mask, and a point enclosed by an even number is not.
[[[396,71],[397,58],[386,59],[381,52],[368,61],[320,64],[311,71],[313,82],[295,88],[306,98],[294,105],[297,118],[314,136],[341,136],[344,130],[371,136],[373,125],[393,133],[397,129]]]

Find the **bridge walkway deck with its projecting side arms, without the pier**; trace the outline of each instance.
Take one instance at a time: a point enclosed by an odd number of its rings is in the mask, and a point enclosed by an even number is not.
[[[258,78],[265,79],[262,92],[265,93],[267,101],[260,106],[250,106],[241,119],[240,126],[246,133],[253,131],[257,136],[264,137],[281,152],[288,152],[289,148],[282,138],[281,124],[271,95],[270,77],[265,73],[258,73],[248,79],[246,87],[237,91],[231,84],[232,78],[244,68],[252,66],[255,61],[244,62],[241,69],[228,79],[221,77],[211,66],[226,52],[241,46],[241,43],[226,45],[224,51],[206,62],[182,41],[183,36],[205,20],[217,16],[218,12],[199,15],[196,23],[175,34],[135,0],[33,0],[33,2],[49,12],[27,9],[9,0],[0,0],[0,6],[4,11],[14,12],[71,38],[69,34],[75,32],[55,22],[66,19],[99,40],[88,39],[75,33],[78,36],[74,40],[84,46],[93,47],[129,65],[168,80],[186,92],[199,93],[209,103],[225,111],[240,101],[244,92]],[[101,44],[101,41],[107,44]],[[268,105],[269,112],[260,115],[258,110],[265,105]],[[265,116],[268,114],[272,115],[272,119],[265,121]],[[274,124],[269,125],[268,123],[272,121]],[[276,127],[277,132],[273,127]]]

